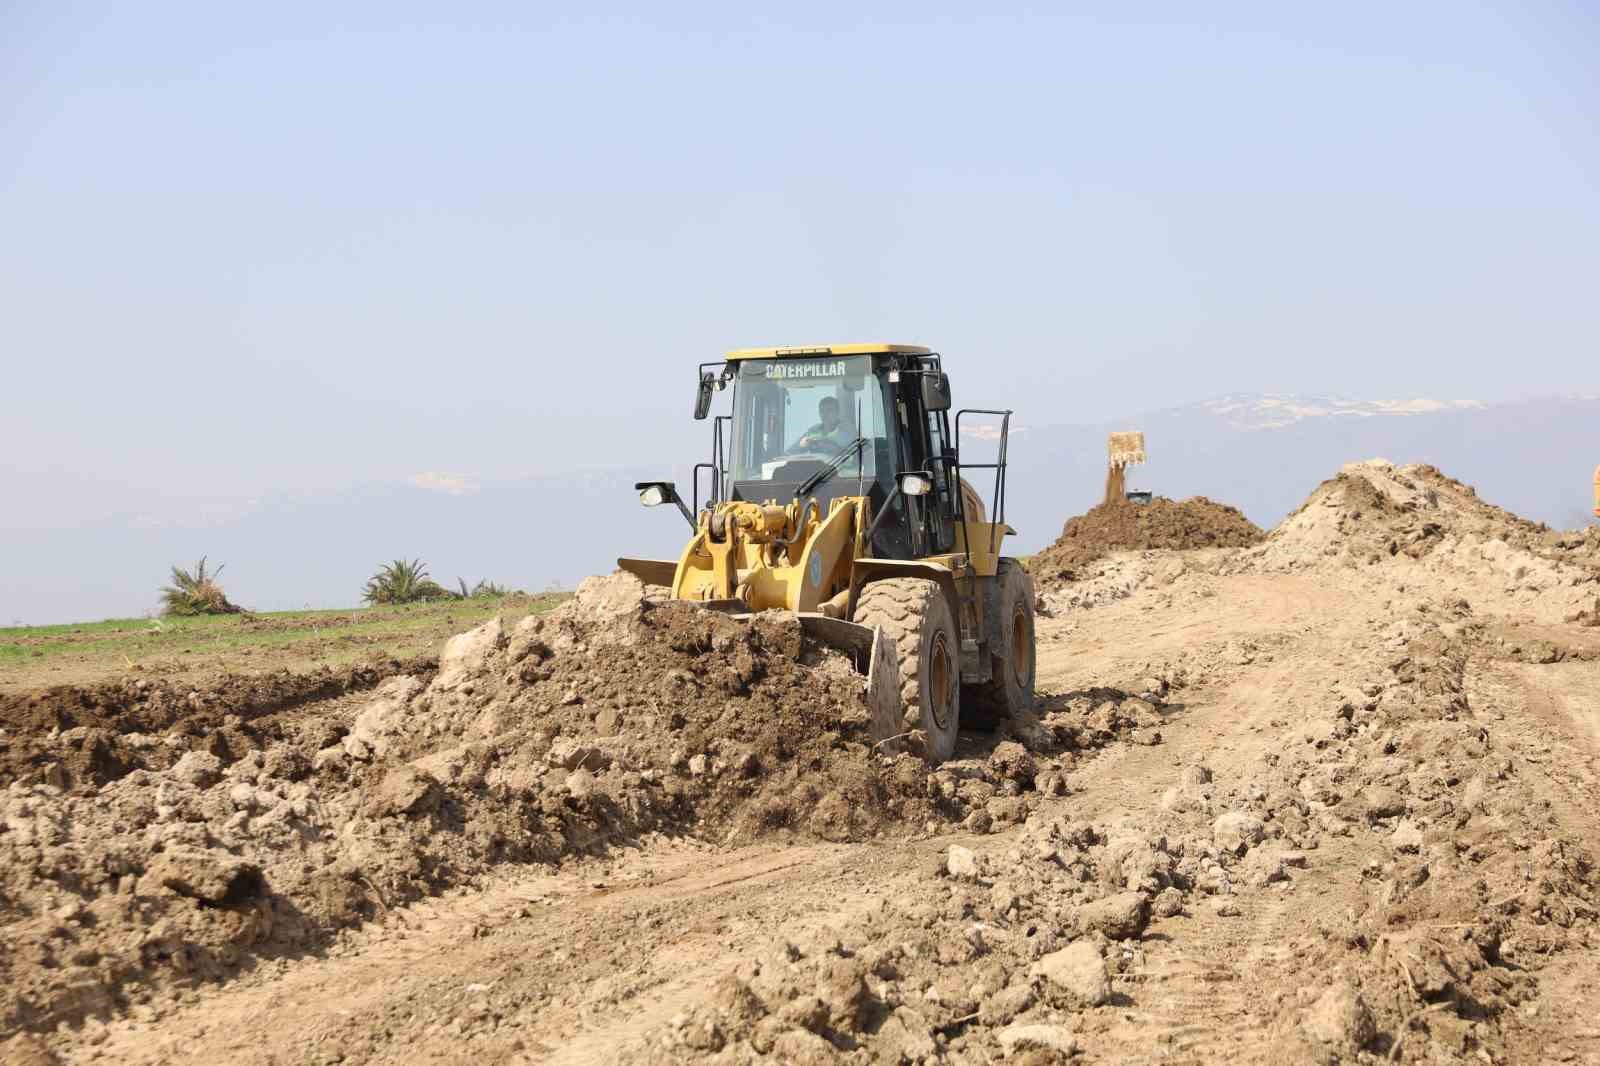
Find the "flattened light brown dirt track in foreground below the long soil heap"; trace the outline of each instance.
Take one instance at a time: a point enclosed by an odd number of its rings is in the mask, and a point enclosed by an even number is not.
[[[872,880],[896,866],[920,869],[936,852],[933,844],[718,852],[659,840],[554,876],[509,876],[483,892],[397,909],[354,935],[339,957],[262,972],[158,1024],[118,1023],[70,1061],[459,1061],[453,1018],[472,1012],[474,989],[507,980],[522,986],[528,1013],[507,1026],[510,1036],[475,1040],[474,1058],[608,1061],[701,997],[731,952],[848,919],[886,890]],[[846,885],[858,892],[842,892]],[[797,900],[808,904],[802,916],[789,914]],[[619,944],[624,959],[613,965]],[[590,1002],[563,1004],[571,991]],[[387,1024],[397,1004],[411,1015],[395,1018],[397,1039],[366,1042],[374,1016]]]

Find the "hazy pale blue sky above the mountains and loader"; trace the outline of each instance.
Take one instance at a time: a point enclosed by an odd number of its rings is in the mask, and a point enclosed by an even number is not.
[[[1590,3],[440,11],[0,0],[0,549],[682,461],[762,343],[1035,424],[1600,392]]]

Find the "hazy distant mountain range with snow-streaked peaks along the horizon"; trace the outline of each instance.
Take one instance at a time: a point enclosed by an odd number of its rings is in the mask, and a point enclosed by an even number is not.
[[[1022,400],[1019,400],[1019,405]],[[1051,426],[1046,411],[1014,418],[1006,517],[1013,552],[1051,543],[1061,523],[1094,506],[1106,472],[1106,434],[1139,429],[1149,463],[1130,488],[1210,496],[1274,525],[1338,469],[1382,456],[1432,463],[1490,503],[1557,527],[1590,520],[1600,464],[1600,397],[1474,403],[1226,395],[1091,426]],[[995,434],[973,432],[965,458],[981,461]],[[256,610],[349,607],[373,568],[421,555],[437,579],[478,578],[571,587],[618,555],[675,557],[688,527],[672,507],[643,511],[634,482],[677,477],[686,461],[582,471],[523,480],[418,474],[339,495],[280,498],[203,528],[117,522],[8,536],[0,624],[138,615],[174,563],[202,552],[226,562],[229,594]],[[694,456],[698,458],[698,456]],[[986,496],[992,479],[974,471]],[[686,490],[685,490],[686,491]],[[195,523],[198,525],[198,523]],[[19,563],[18,560],[26,560]]]

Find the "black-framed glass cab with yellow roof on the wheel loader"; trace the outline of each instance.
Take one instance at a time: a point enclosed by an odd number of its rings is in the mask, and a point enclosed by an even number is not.
[[[808,495],[824,512],[838,496],[867,496],[874,514],[888,507],[875,555],[955,549],[957,451],[936,354],[914,346],[750,349],[730,352],[715,379],[731,386],[733,410],[726,431],[718,419],[714,461],[702,464],[714,467],[714,501],[786,503],[832,467]],[[931,491],[896,491],[907,472],[926,474]]]

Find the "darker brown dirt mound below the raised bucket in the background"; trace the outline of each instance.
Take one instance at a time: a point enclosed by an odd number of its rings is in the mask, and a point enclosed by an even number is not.
[[[1056,543],[1030,563],[1035,579],[1075,581],[1088,563],[1117,551],[1246,547],[1266,536],[1237,507],[1205,496],[1173,501],[1157,496],[1147,504],[1104,503],[1067,519]]]

